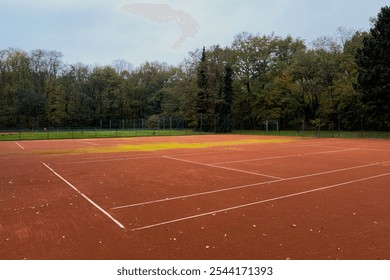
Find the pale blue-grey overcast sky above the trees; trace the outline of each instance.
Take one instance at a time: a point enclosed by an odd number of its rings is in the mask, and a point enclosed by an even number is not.
[[[240,32],[307,43],[338,27],[368,30],[388,0],[0,0],[0,49],[57,50],[66,63],[177,65]]]

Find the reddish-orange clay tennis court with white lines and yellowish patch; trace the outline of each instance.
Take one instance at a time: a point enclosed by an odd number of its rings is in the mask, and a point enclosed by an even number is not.
[[[389,259],[390,141],[0,142],[0,259]]]

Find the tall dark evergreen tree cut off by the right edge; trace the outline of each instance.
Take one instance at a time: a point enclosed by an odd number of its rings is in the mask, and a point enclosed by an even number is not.
[[[370,128],[390,129],[390,7],[383,7],[356,53],[357,89]]]

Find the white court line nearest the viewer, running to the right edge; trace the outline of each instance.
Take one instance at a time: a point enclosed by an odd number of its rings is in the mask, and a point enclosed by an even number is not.
[[[335,185],[329,185],[329,186],[320,187],[320,188],[316,188],[316,189],[312,189],[312,190],[308,190],[308,191],[291,193],[291,194],[278,196],[278,197],[274,197],[274,198],[269,198],[269,199],[265,199],[265,200],[261,200],[261,201],[251,202],[251,203],[247,203],[247,204],[240,204],[240,205],[237,205],[237,206],[223,208],[223,209],[210,211],[210,212],[205,212],[205,213],[198,214],[198,215],[187,216],[187,217],[183,217],[183,218],[179,218],[179,219],[173,219],[173,220],[169,220],[169,221],[165,221],[165,222],[161,222],[161,223],[156,223],[156,224],[151,224],[151,225],[147,225],[147,226],[143,226],[143,227],[139,227],[139,228],[133,228],[133,229],[131,229],[131,231],[145,230],[145,229],[154,228],[154,227],[158,227],[158,226],[162,226],[162,225],[166,225],[166,224],[173,224],[173,223],[177,223],[177,222],[181,222],[181,221],[196,219],[196,218],[200,218],[200,217],[204,217],[204,216],[218,214],[218,213],[221,213],[221,212],[232,211],[232,210],[236,210],[236,209],[240,209],[240,208],[246,208],[246,207],[259,205],[259,204],[263,204],[263,203],[267,203],[267,202],[271,202],[271,201],[282,200],[282,199],[286,199],[286,198],[290,198],[290,197],[296,197],[296,196],[301,196],[301,195],[305,195],[305,194],[309,194],[309,193],[314,193],[314,192],[324,191],[324,190],[337,188],[337,187],[341,187],[341,186],[345,186],[345,185],[350,185],[350,184],[353,184],[353,183],[368,181],[368,180],[372,180],[372,179],[376,179],[376,178],[380,178],[380,177],[385,177],[385,176],[388,176],[388,175],[390,175],[390,173],[384,173],[384,174],[371,176],[371,177],[367,177],[367,178],[363,178],[363,179],[348,181],[348,182],[339,183],[339,184],[335,184]]]

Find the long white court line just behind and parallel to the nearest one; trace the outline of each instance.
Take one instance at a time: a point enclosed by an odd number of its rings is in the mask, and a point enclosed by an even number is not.
[[[390,162],[390,161],[388,161],[388,162]],[[250,187],[257,187],[257,186],[261,186],[261,185],[271,185],[271,184],[274,184],[274,183],[280,183],[280,182],[285,182],[285,181],[292,181],[292,180],[298,180],[298,179],[303,179],[303,178],[315,177],[315,176],[319,176],[319,175],[332,174],[332,173],[343,172],[343,171],[348,171],[348,170],[353,170],[353,169],[365,168],[365,167],[385,164],[385,163],[388,163],[388,162],[376,162],[376,163],[370,163],[370,164],[365,164],[365,165],[352,166],[352,167],[347,167],[347,168],[341,168],[341,169],[335,169],[335,170],[329,170],[329,171],[324,171],[324,172],[312,173],[312,174],[301,175],[301,176],[296,176],[296,177],[290,177],[290,178],[285,178],[285,179],[278,179],[278,180],[273,180],[273,181],[254,183],[254,184],[236,186],[236,187],[231,187],[231,188],[224,188],[224,189],[207,191],[207,192],[199,192],[199,193],[193,193],[193,194],[188,194],[188,195],[168,197],[168,198],[165,198],[165,199],[158,199],[158,200],[152,200],[152,201],[146,201],[146,202],[140,202],[140,203],[123,205],[123,206],[117,206],[117,207],[114,207],[114,208],[111,208],[111,209],[115,210],[115,209],[131,208],[131,207],[148,205],[148,204],[154,204],[154,203],[159,203],[159,202],[178,200],[178,199],[183,199],[183,198],[196,197],[196,196],[208,195],[208,194],[219,193],[219,192],[227,192],[227,191],[245,189],[245,188],[250,188]]]

